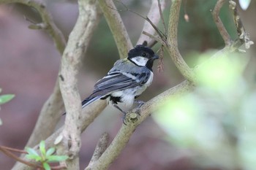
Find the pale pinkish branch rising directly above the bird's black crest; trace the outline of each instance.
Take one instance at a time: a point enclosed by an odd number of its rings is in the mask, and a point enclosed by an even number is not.
[[[161,9],[165,9],[166,7],[166,0],[161,0],[159,1]],[[156,26],[159,23],[159,20],[161,18],[161,15],[159,13],[159,8],[158,8],[158,1],[152,0],[151,1],[151,8],[149,9],[148,19],[151,20],[152,23]],[[143,26],[143,31],[147,32],[148,34],[154,35],[156,33],[155,29],[151,26],[150,23],[148,23],[147,20],[145,20],[144,26]],[[140,38],[138,39],[137,44],[142,45],[143,42],[146,41],[148,42],[148,47],[151,47],[151,45],[154,44],[155,40],[151,39],[151,37],[143,34],[140,34]]]

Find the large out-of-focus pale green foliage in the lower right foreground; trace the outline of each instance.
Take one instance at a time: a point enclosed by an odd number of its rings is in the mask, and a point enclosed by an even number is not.
[[[244,54],[200,55],[198,85],[192,93],[165,101],[154,120],[176,147],[194,151],[200,166],[256,167],[256,89],[242,74]]]

